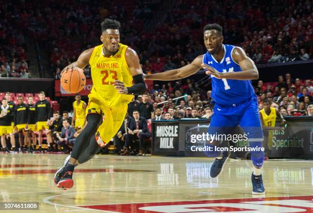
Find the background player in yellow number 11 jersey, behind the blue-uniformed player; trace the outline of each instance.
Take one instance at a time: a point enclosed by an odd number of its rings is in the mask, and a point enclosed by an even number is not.
[[[285,122],[285,120],[276,108],[271,107],[271,101],[269,100],[263,101],[263,109],[260,110],[259,114],[264,132],[264,142],[265,144],[267,144],[267,147],[265,147],[267,149],[267,152],[271,152],[273,147],[272,139],[274,130],[278,130],[281,128],[278,126],[275,127],[276,118],[279,117],[282,124]],[[266,154],[268,154],[267,152],[265,151],[265,156]]]

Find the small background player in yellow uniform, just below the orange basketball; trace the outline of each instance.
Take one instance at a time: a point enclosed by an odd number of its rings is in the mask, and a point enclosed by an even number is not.
[[[87,104],[81,100],[80,95],[75,96],[76,101],[73,102],[73,109],[74,109],[74,115],[73,115],[73,120],[72,120],[72,126],[77,128],[82,128],[86,122],[86,107]],[[75,121],[75,125],[74,125]]]

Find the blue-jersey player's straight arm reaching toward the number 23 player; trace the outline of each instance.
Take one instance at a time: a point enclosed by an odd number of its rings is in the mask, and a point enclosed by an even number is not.
[[[178,80],[195,74],[201,69],[203,55],[199,55],[189,65],[162,73],[145,75],[146,80]]]

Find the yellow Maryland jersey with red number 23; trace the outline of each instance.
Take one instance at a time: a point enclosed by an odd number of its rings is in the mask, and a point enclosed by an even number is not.
[[[126,45],[120,43],[116,54],[105,57],[102,54],[102,44],[95,47],[89,60],[93,80],[91,93],[111,109],[128,104],[132,99],[132,95],[119,94],[114,88],[115,80],[124,82],[125,87],[132,86],[132,75],[125,58],[127,48]]]

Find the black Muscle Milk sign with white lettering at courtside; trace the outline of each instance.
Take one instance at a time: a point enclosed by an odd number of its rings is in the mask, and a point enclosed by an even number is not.
[[[154,148],[178,150],[178,123],[160,123],[155,128]]]

